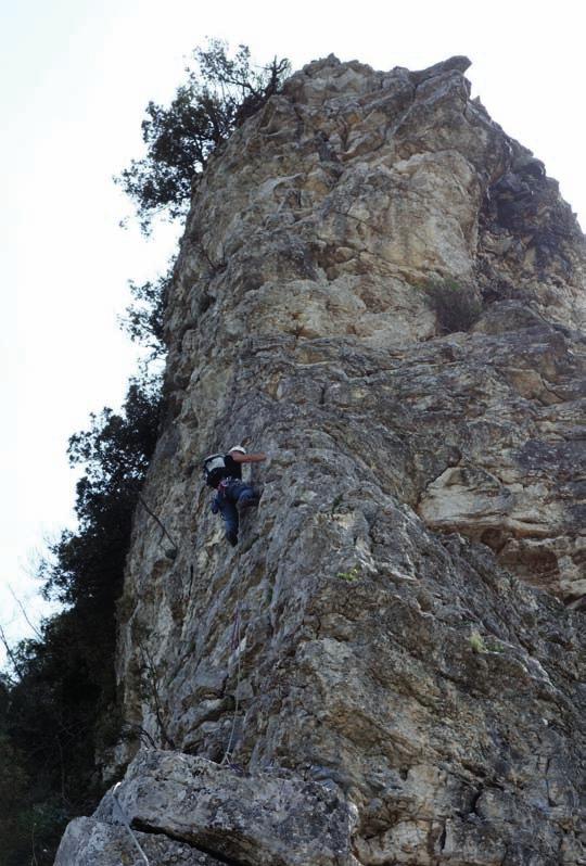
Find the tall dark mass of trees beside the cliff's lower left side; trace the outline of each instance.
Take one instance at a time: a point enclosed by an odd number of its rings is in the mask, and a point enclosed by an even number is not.
[[[95,752],[117,736],[104,724],[116,715],[115,602],[160,406],[157,380],[133,380],[120,413],[104,409],[69,440],[72,466],[85,467],[79,524],[42,569],[44,595],[66,608],[16,648],[16,682],[0,689],[0,801],[14,792],[0,823],[7,866],[49,866],[67,820],[102,793]]]

